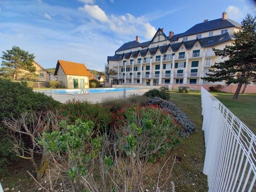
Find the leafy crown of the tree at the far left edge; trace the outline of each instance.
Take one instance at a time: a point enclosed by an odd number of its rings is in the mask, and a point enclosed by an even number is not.
[[[13,77],[17,80],[18,74],[22,70],[34,73],[36,71],[33,65],[35,56],[34,53],[30,54],[27,51],[20,49],[18,46],[13,46],[11,50],[6,50],[2,52],[2,68],[0,69],[0,74],[4,77]],[[35,74],[33,75],[35,76]]]

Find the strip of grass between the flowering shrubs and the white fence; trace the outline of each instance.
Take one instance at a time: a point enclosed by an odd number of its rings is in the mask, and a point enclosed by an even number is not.
[[[207,191],[207,177],[203,174],[204,132],[202,131],[201,94],[200,92],[170,92],[176,106],[185,112],[196,124],[196,132],[173,150],[181,161],[175,163],[173,182],[175,191]]]

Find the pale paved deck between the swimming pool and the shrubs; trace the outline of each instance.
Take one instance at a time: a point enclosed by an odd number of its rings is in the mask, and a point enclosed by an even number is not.
[[[68,100],[73,100],[73,99],[79,100],[79,101],[87,101],[87,102],[91,102],[91,103],[100,103],[100,102],[102,102],[102,99],[124,98],[124,91],[115,91],[115,92],[107,92],[107,93],[93,93],[93,94],[57,94],[57,93],[52,94],[52,93],[49,93],[50,90],[34,90],[34,91],[44,93],[50,97],[53,97],[55,100],[60,101],[61,103],[65,103]],[[126,91],[126,98],[132,94],[142,95],[147,91],[148,91],[148,89]]]

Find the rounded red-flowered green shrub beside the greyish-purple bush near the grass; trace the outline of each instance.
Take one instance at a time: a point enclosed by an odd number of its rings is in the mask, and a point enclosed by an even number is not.
[[[150,162],[156,161],[181,142],[181,126],[166,111],[157,106],[132,105],[115,114],[114,131],[127,155],[138,153],[137,143],[141,151],[147,151]]]

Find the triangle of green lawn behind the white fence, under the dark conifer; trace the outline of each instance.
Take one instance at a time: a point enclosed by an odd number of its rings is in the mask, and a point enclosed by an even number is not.
[[[223,103],[234,115],[236,115],[254,134],[256,134],[256,94],[239,94],[237,100],[233,100],[233,93],[212,92],[215,98]]]

